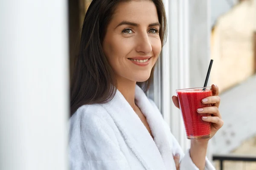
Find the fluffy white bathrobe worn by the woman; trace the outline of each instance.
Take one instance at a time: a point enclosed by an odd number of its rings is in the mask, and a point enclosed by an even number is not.
[[[176,153],[180,154],[180,170],[199,170],[139,86],[135,100],[154,139],[117,91],[110,102],[81,106],[70,118],[70,170],[176,170]],[[215,170],[207,158],[205,170]]]

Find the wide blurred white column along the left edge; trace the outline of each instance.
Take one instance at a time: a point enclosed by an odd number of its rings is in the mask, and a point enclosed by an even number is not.
[[[67,170],[65,0],[0,0],[0,170]]]

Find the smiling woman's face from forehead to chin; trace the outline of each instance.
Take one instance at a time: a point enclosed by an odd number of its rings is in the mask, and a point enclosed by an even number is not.
[[[120,3],[103,40],[104,53],[117,82],[144,82],[161,51],[157,8],[149,0]]]

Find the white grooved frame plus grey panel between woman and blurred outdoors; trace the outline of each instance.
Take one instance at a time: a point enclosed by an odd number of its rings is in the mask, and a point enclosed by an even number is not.
[[[180,111],[172,104],[179,88],[199,87],[207,73],[210,42],[209,0],[164,0],[168,18],[168,37],[162,52],[163,117],[186,150]]]

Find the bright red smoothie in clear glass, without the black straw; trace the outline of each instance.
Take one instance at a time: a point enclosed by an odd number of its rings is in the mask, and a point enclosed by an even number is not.
[[[210,137],[210,123],[202,120],[202,116],[210,114],[199,114],[198,108],[211,106],[202,103],[202,99],[212,96],[211,88],[192,88],[177,90],[180,110],[183,116],[188,139],[207,139]]]

